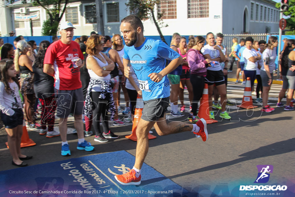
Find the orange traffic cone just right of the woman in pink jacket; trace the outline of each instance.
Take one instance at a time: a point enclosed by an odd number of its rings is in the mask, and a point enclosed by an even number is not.
[[[207,124],[218,122],[216,120],[211,119],[209,116],[208,84],[204,85],[203,95],[200,100],[198,116],[199,118],[204,118]]]

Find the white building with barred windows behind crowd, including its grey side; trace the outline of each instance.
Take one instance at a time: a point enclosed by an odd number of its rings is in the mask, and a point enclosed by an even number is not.
[[[120,21],[130,14],[126,0],[103,0],[104,34],[120,34]],[[15,1],[0,1],[0,32],[7,36],[16,32],[16,36],[31,36],[29,21],[16,21],[14,15],[21,8],[30,13],[39,12],[39,19],[32,21],[33,35],[41,36],[43,21],[48,17],[41,6],[22,4]],[[155,8],[164,12],[163,22],[168,27],[161,28],[163,35],[178,32],[181,35],[206,35],[207,32],[224,34],[270,33],[278,32],[279,9],[272,0],[163,0]],[[22,10],[23,11],[23,10]],[[94,0],[70,1],[66,6],[61,22],[70,21],[76,27],[75,35],[90,35],[97,32],[96,5]],[[144,34],[159,35],[152,20],[143,21]]]

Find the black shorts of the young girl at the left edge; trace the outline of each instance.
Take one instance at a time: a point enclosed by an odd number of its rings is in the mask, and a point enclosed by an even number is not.
[[[6,115],[5,113],[1,113],[1,120],[3,124],[5,125],[5,128],[15,128],[19,125],[23,124],[24,120],[24,113],[22,112],[22,109],[13,109],[14,114],[13,115]]]

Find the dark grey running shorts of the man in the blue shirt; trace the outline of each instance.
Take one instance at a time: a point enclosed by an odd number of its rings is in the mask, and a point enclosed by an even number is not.
[[[169,106],[169,97],[146,100],[142,109],[141,119],[145,121],[157,121],[163,118]]]

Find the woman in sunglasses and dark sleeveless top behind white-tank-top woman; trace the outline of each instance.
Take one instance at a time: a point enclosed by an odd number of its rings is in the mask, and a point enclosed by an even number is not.
[[[115,114],[113,126],[124,125],[125,123],[123,121],[119,120],[118,108],[117,108],[117,106],[119,106],[119,105],[117,105],[118,102],[116,102],[119,100],[118,99],[119,70],[116,65],[119,65],[119,69],[122,71],[122,73],[124,72],[124,66],[121,62],[118,52],[111,48],[112,47],[111,37],[109,37],[108,35],[103,36],[101,38],[101,43],[103,44],[103,50],[101,52],[105,53],[107,57],[109,57],[114,63],[116,63],[114,70],[112,70],[112,72],[110,73],[111,81],[114,84],[112,92],[113,92],[113,97],[114,97],[114,101],[115,101],[115,105],[116,105],[116,114]]]

